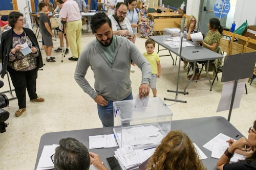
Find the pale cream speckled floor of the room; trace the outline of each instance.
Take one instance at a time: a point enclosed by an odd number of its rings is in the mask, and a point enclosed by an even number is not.
[[[94,38],[91,32],[83,31],[83,47]],[[38,40],[41,40],[40,37]],[[141,52],[145,52],[144,42],[143,38],[136,40],[136,45]],[[58,47],[58,43],[58,40],[54,41],[54,49]],[[167,54],[167,51],[160,53]],[[61,53],[53,52],[52,56],[56,57],[56,63],[46,62],[45,53],[42,52],[42,54],[45,66],[43,70],[38,71],[37,94],[45,98],[45,102],[32,103],[27,99],[27,110],[20,117],[14,115],[18,109],[17,100],[10,101],[9,107],[4,108],[10,112],[10,117],[6,121],[9,123],[6,132],[0,134],[0,169],[34,169],[40,137],[45,133],[102,127],[97,115],[96,103],[74,80],[76,62],[68,60],[71,52],[63,58],[63,62],[61,62]],[[170,57],[161,57],[161,78],[157,80],[157,94],[161,99],[175,98],[175,93],[167,92],[167,89],[176,89],[178,66],[172,64]],[[183,69],[182,66],[183,63],[181,64],[180,90],[184,89],[187,82],[187,68]],[[135,73],[131,73],[131,80],[135,96],[141,82],[141,72],[138,67],[134,66],[134,68]],[[93,86],[93,72],[90,69],[86,78]],[[7,77],[3,81],[5,86],[1,91],[8,90]],[[185,100],[187,103],[165,101],[174,113],[173,120],[207,116],[227,118],[228,111],[216,113],[222,85],[220,81],[216,81],[210,91],[207,81],[191,83],[187,88],[188,95],[178,95],[179,100]],[[244,92],[240,108],[232,110],[230,120],[230,123],[246,137],[247,129],[256,119],[255,87],[256,80],[251,86],[247,83],[248,94]],[[152,92],[150,96],[153,96]],[[8,97],[10,98],[9,95]]]

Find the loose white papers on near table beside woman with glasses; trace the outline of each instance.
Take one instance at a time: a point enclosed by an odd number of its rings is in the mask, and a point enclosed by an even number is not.
[[[207,143],[203,145],[204,148],[211,151],[211,157],[220,159],[225,150],[229,147],[227,140],[231,139],[231,137],[220,133]],[[237,162],[238,160],[244,160],[245,157],[243,155],[234,153],[233,157],[230,159],[230,162]]]

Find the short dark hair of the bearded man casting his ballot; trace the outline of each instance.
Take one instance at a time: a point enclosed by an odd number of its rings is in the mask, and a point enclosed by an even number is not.
[[[95,34],[96,30],[99,29],[104,23],[109,23],[109,26],[112,27],[110,18],[104,12],[98,12],[93,15],[90,23],[92,33]]]

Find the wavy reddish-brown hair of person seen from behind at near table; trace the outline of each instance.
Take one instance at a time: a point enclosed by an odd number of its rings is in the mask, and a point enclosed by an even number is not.
[[[180,131],[170,131],[157,147],[147,169],[203,170],[205,167],[188,136]]]

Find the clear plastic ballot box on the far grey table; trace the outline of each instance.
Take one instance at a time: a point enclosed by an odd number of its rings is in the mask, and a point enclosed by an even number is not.
[[[163,43],[171,48],[179,48],[182,39],[182,47],[186,47],[187,33],[181,33],[179,28],[163,29]]]

